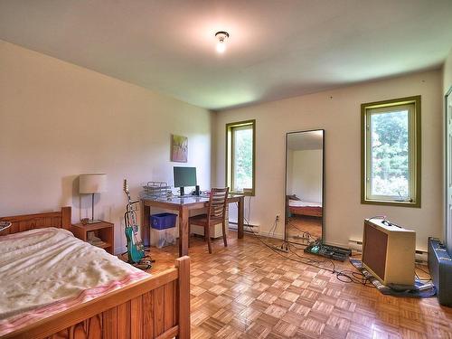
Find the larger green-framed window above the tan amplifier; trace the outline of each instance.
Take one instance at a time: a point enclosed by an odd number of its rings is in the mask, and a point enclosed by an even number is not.
[[[362,202],[420,207],[420,96],[361,109]]]

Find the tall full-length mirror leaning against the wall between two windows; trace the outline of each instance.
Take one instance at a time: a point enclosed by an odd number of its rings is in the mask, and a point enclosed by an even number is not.
[[[287,133],[286,241],[323,239],[324,146],[323,129]]]

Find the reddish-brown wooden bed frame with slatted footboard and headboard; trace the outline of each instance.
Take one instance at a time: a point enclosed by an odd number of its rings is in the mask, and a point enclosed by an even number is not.
[[[71,207],[61,212],[2,217],[0,235],[44,227],[71,229]],[[3,338],[190,338],[190,259],[175,267],[71,307]]]

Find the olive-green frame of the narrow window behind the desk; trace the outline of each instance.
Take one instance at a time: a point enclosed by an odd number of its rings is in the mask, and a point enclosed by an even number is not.
[[[233,155],[233,129],[236,127],[250,126],[252,129],[252,187],[251,192],[235,191],[232,187],[233,180],[233,168],[234,168],[234,155]],[[254,196],[256,194],[256,119],[231,122],[226,124],[226,171],[225,171],[225,184],[230,188],[231,193],[244,194]]]

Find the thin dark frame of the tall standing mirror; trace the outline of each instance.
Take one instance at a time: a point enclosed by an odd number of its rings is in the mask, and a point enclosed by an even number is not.
[[[301,131],[293,131],[293,132],[287,132],[286,133],[286,163],[284,165],[284,168],[286,169],[286,181],[284,182],[284,241],[290,242],[290,243],[296,243],[299,244],[299,242],[289,241],[287,240],[287,215],[288,215],[288,203],[287,203],[287,146],[288,146],[288,137],[290,135],[296,134],[296,133],[303,133],[303,132],[317,132],[322,131],[322,239],[321,242],[325,243],[325,129],[323,128],[316,128],[316,129],[306,129]]]

